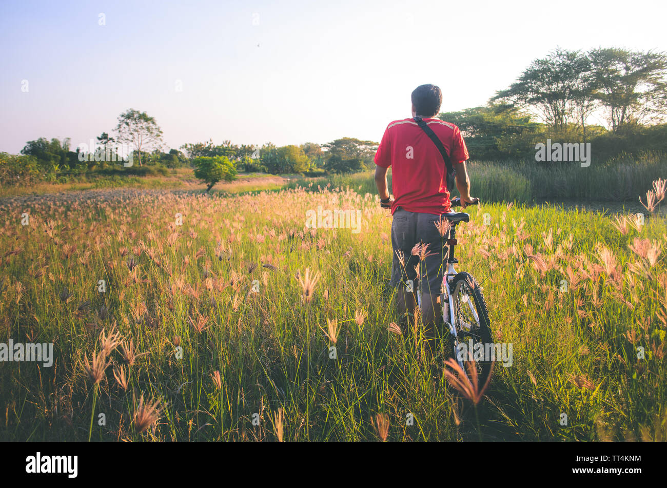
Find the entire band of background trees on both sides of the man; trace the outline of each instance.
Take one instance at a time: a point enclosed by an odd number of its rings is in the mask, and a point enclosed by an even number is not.
[[[555,49],[535,59],[510,87],[487,105],[440,113],[460,127],[471,159],[533,159],[535,145],[587,143],[594,160],[620,153],[667,151],[667,55],[618,48],[590,51]],[[21,155],[0,153],[0,183],[67,181],[97,174],[168,174],[199,168],[208,180],[229,181],[237,172],[272,174],[350,173],[373,166],[378,143],[343,137],[322,145],[278,147],[265,143],[219,144],[212,139],[165,152],[162,131],[145,112],[121,113],[113,136],[103,132],[95,147],[71,150],[69,139],[29,141]],[[123,164],[119,145],[133,148],[132,165]],[[212,159],[211,159],[212,158]],[[213,183],[215,184],[215,183]]]

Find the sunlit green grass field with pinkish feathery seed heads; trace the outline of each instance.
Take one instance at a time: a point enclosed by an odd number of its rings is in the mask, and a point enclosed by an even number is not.
[[[305,228],[318,205],[361,231]],[[391,217],[363,189],[7,200],[0,343],[55,359],[0,363],[0,439],[665,440],[664,217],[469,211],[458,269],[514,355],[476,406],[390,330]]]

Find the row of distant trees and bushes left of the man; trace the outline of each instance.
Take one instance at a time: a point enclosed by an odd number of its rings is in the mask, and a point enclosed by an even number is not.
[[[128,109],[118,117],[115,137],[107,132],[93,144],[82,143],[73,151],[65,138],[28,141],[20,155],[0,153],[0,183],[27,185],[35,181],[66,183],[72,178],[96,175],[167,175],[169,169],[193,167],[195,176],[209,184],[231,181],[237,172],[273,174],[348,173],[371,167],[378,147],[373,141],[351,137],[319,145],[304,143],[277,147],[266,143],[220,144],[212,139],[186,143],[163,151],[162,131],[153,117]],[[125,147],[132,148],[131,163],[123,159]],[[126,151],[127,152],[127,151]]]

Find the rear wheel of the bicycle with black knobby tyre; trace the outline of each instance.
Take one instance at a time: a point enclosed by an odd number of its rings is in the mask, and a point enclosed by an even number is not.
[[[455,357],[461,346],[464,361],[469,361],[468,353],[478,357],[476,367],[480,387],[486,383],[493,363],[490,352],[494,347],[491,337],[491,326],[486,301],[482,288],[470,273],[457,273],[450,283],[452,303],[454,304],[454,320],[458,337],[454,339],[453,349]],[[490,346],[487,346],[490,344]],[[479,360],[480,352],[482,359]],[[466,368],[466,373],[468,369]]]

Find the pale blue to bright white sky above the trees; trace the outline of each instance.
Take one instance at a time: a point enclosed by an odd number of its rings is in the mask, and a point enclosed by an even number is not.
[[[484,105],[556,47],[667,51],[667,2],[0,0],[0,151],[129,108],[165,147],[380,141],[434,83]],[[168,149],[167,149],[168,150]]]

